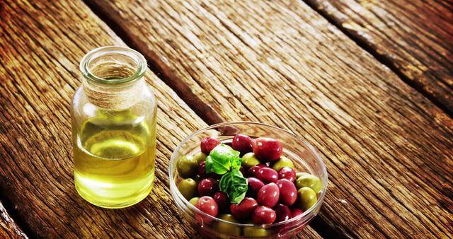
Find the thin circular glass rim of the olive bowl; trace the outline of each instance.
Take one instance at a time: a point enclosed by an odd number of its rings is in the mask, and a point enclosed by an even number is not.
[[[206,214],[204,211],[201,211],[200,209],[197,209],[197,207],[194,206],[193,204],[191,204],[188,201],[188,199],[185,199],[185,197],[183,197],[183,194],[181,194],[179,192],[175,180],[173,180],[172,165],[173,165],[173,162],[176,161],[176,155],[178,154],[178,151],[180,150],[180,148],[187,141],[189,141],[193,136],[195,136],[196,134],[198,134],[200,132],[205,132],[205,131],[207,131],[209,129],[214,129],[214,128],[218,128],[218,127],[231,126],[231,125],[234,125],[234,124],[256,124],[256,125],[260,125],[260,126],[264,126],[264,127],[270,127],[270,128],[273,128],[273,129],[277,129],[277,130],[280,130],[282,132],[285,132],[287,134],[290,134],[290,135],[294,136],[297,140],[302,142],[302,144],[307,146],[307,148],[309,148],[311,150],[311,153],[314,153],[314,156],[316,157],[316,159],[321,164],[322,173],[323,173],[322,180],[323,180],[323,182],[325,182],[323,184],[323,187],[321,188],[321,195],[320,195],[319,199],[316,201],[316,204],[311,206],[310,209],[304,211],[303,214],[300,214],[299,216],[296,216],[295,218],[291,218],[291,219],[286,220],[286,221],[280,221],[278,223],[268,223],[268,224],[243,224],[243,223],[234,223],[234,222],[231,222],[231,221],[225,221],[225,220],[223,220],[221,218],[217,218],[215,216],[211,216],[210,214]],[[275,126],[273,126],[271,124],[264,124],[264,123],[253,122],[253,121],[232,121],[232,122],[222,122],[222,123],[219,123],[219,124],[211,124],[211,125],[209,125],[207,127],[204,127],[202,129],[198,129],[197,131],[193,132],[189,136],[186,136],[185,139],[183,139],[183,141],[181,141],[180,144],[178,144],[176,149],[171,154],[170,165],[168,166],[168,177],[170,177],[170,190],[171,190],[171,192],[174,192],[176,194],[176,196],[178,196],[178,198],[183,201],[185,206],[188,206],[190,209],[195,211],[195,214],[200,214],[202,217],[212,218],[213,221],[214,220],[215,221],[221,221],[222,223],[228,223],[228,224],[231,224],[233,226],[241,226],[241,227],[248,226],[248,227],[259,227],[259,228],[263,228],[263,227],[270,228],[270,227],[274,227],[274,226],[281,226],[281,225],[285,225],[287,223],[292,223],[293,221],[299,221],[299,219],[301,219],[301,218],[307,218],[306,217],[307,215],[313,214],[314,210],[316,208],[318,208],[323,203],[323,199],[324,199],[324,196],[326,194],[327,185],[328,185],[328,173],[327,173],[326,164],[322,160],[321,156],[319,156],[318,152],[316,152],[314,147],[311,146],[311,144],[307,143],[306,141],[304,141],[304,139],[302,139],[301,137],[297,136],[293,132],[290,132],[287,129],[282,129],[282,128],[279,128],[279,127],[275,127]],[[173,196],[173,199],[175,199],[175,195],[173,194],[172,196]],[[177,204],[178,202],[175,202],[175,203]],[[311,218],[311,217],[308,217],[308,218]]]

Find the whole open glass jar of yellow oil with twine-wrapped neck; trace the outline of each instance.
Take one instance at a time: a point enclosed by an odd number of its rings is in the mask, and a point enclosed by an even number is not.
[[[136,204],[154,185],[156,99],[147,62],[126,47],[100,47],[80,62],[71,107],[76,190],[105,208]]]

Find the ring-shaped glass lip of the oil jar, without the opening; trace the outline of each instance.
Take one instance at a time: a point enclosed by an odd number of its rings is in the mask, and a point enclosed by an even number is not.
[[[135,70],[134,74],[128,76],[127,78],[112,79],[96,76],[96,74],[93,74],[90,71],[89,66],[93,59],[98,59],[99,57],[104,57],[111,54],[121,54],[125,57],[128,57],[129,59],[132,59],[137,64],[137,69]],[[92,49],[90,52],[86,53],[85,56],[81,59],[79,67],[80,71],[82,72],[82,76],[90,81],[108,84],[126,83],[142,78],[142,76],[144,76],[144,73],[147,70],[147,60],[142,54],[129,47],[105,46]]]

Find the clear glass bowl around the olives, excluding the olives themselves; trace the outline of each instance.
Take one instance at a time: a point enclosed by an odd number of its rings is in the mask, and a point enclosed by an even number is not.
[[[197,209],[190,204],[187,199],[183,197],[178,191],[177,184],[180,182],[181,177],[178,176],[176,164],[178,159],[186,156],[193,155],[200,151],[200,142],[206,136],[216,136],[222,143],[231,143],[234,135],[246,134],[251,138],[270,137],[277,139],[283,146],[282,156],[287,156],[292,160],[296,167],[296,172],[308,172],[316,175],[321,179],[322,189],[318,194],[318,201],[309,210],[304,211],[304,214],[287,221],[280,223],[254,225],[232,223],[215,218]],[[226,122],[221,124],[214,124],[205,129],[200,129],[185,138],[173,152],[170,160],[170,189],[173,199],[176,202],[178,209],[183,212],[185,218],[197,229],[197,231],[205,238],[254,238],[244,235],[244,231],[250,232],[263,232],[265,229],[266,238],[291,238],[296,235],[311,221],[316,214],[318,214],[321,204],[323,203],[324,195],[326,194],[327,186],[327,170],[321,157],[314,151],[314,148],[306,143],[298,136],[288,132],[285,129],[273,127],[268,124],[261,124],[257,122]],[[197,220],[198,218],[198,220]],[[200,220],[203,218],[203,220]],[[223,224],[225,223],[225,224]],[[234,228],[234,230],[219,232],[219,224],[222,227]],[[241,235],[231,235],[229,233],[241,232]]]

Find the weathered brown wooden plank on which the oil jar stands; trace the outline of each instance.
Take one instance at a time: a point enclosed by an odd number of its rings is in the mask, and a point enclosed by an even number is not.
[[[88,204],[74,189],[71,161],[78,64],[90,49],[125,44],[81,1],[1,1],[0,9],[0,191],[30,236],[196,238],[171,199],[168,160],[206,124],[149,71],[159,101],[154,189],[127,209]]]

